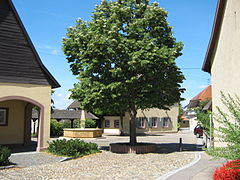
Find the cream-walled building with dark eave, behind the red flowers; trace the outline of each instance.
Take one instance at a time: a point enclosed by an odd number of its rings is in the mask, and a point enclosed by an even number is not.
[[[219,0],[215,22],[203,70],[212,76],[212,108],[216,106],[226,112],[221,102],[221,91],[240,95],[240,1]],[[214,126],[219,124],[214,122]],[[222,146],[223,143],[215,143]]]

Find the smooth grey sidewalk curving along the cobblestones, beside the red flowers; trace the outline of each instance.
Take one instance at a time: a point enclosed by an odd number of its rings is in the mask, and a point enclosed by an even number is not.
[[[199,153],[200,160],[193,166],[187,167],[166,180],[212,180],[212,175],[217,167],[225,161],[223,159],[213,159],[205,152]]]

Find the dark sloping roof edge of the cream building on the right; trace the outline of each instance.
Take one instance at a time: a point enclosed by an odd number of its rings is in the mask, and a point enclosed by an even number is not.
[[[214,60],[214,55],[216,52],[216,47],[222,28],[222,21],[225,13],[226,4],[227,0],[218,0],[211,39],[209,41],[207,53],[205,55],[204,63],[202,66],[202,70],[208,73],[211,73],[211,66]]]

